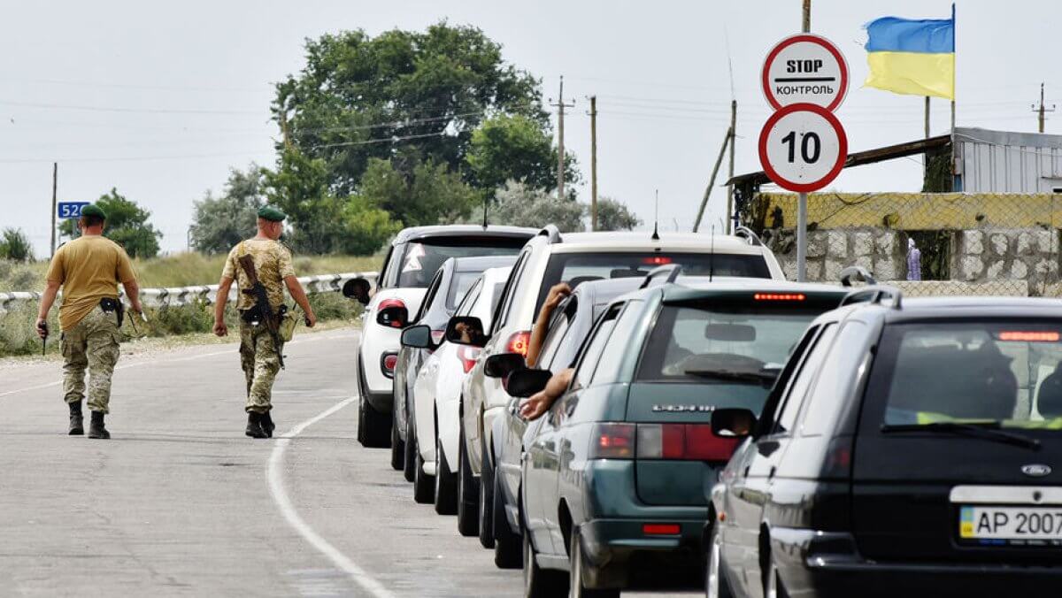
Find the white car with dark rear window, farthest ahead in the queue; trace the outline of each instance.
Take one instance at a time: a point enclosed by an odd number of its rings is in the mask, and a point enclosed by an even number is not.
[[[358,441],[364,446],[391,445],[394,408],[394,368],[398,340],[424,300],[435,271],[451,257],[516,255],[533,228],[515,226],[416,226],[391,241],[376,292],[370,283],[354,278],[343,294],[365,305],[358,346]]]

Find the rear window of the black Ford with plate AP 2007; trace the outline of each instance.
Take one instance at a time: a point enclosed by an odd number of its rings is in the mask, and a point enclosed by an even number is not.
[[[1062,324],[1043,321],[890,326],[872,382],[883,423],[1062,429],[1060,339]]]

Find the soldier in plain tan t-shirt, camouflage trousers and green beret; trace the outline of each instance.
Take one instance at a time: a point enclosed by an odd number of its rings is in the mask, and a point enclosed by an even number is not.
[[[125,250],[103,236],[107,215],[92,204],[78,221],[82,236],[55,251],[48,267],[48,287],[37,312],[37,335],[48,335],[48,311],[59,288],[59,327],[63,329],[63,396],[70,409],[70,435],[85,433],[81,401],[88,368],[88,408],[92,418],[88,438],[108,439],[104,415],[110,412],[110,378],[120,354],[124,307],[118,284],[125,289],[133,311],[141,312],[140,289]]]

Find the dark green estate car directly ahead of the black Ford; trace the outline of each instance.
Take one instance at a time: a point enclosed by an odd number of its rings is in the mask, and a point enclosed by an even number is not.
[[[713,433],[713,411],[758,413],[807,325],[850,290],[672,275],[611,302],[525,438],[526,595],[699,586],[707,497],[738,443]],[[529,395],[541,374],[509,388]]]

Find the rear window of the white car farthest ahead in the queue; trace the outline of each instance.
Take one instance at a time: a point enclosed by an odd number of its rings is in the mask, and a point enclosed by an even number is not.
[[[526,239],[506,237],[440,237],[411,241],[401,257],[398,286],[423,289],[451,257],[516,255],[526,242]]]

